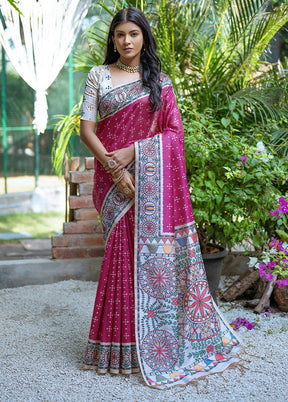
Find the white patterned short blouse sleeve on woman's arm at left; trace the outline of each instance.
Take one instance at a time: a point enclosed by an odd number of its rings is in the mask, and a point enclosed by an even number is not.
[[[89,71],[85,83],[81,120],[89,120],[96,123],[98,97],[99,97],[99,79],[95,67],[93,67]]]

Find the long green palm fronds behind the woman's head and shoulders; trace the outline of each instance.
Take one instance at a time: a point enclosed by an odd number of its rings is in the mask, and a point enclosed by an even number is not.
[[[252,121],[267,124],[287,118],[283,91],[287,72],[279,72],[260,56],[287,23],[288,5],[268,11],[264,0],[184,0],[177,7],[169,0],[97,0],[97,18],[86,35],[89,51],[77,56],[78,69],[87,73],[103,62],[110,20],[119,8],[129,6],[149,16],[163,71],[170,75],[178,99],[188,98],[198,112],[213,109],[215,119],[227,128],[237,125],[239,133]],[[73,127],[66,124],[59,135],[67,138]],[[287,130],[275,126],[273,134],[277,141]],[[65,145],[63,140],[55,141]],[[57,151],[56,144],[52,160],[57,174],[62,172],[63,152]]]

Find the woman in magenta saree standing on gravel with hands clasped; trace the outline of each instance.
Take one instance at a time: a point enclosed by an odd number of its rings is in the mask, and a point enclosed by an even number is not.
[[[223,371],[240,344],[209,293],[181,117],[155,50],[144,14],[123,9],[86,81],[81,139],[95,156],[106,249],[84,368],[140,369],[166,388]]]

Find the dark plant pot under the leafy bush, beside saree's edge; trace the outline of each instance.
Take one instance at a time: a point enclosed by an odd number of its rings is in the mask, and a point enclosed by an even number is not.
[[[228,251],[225,249],[220,250],[218,253],[202,254],[210,293],[216,304],[218,304],[217,296],[222,263],[227,254]]]

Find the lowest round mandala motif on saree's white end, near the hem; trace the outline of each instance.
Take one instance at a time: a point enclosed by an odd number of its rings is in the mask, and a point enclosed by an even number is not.
[[[141,354],[152,370],[170,370],[179,356],[177,339],[168,331],[154,329],[145,336]]]

